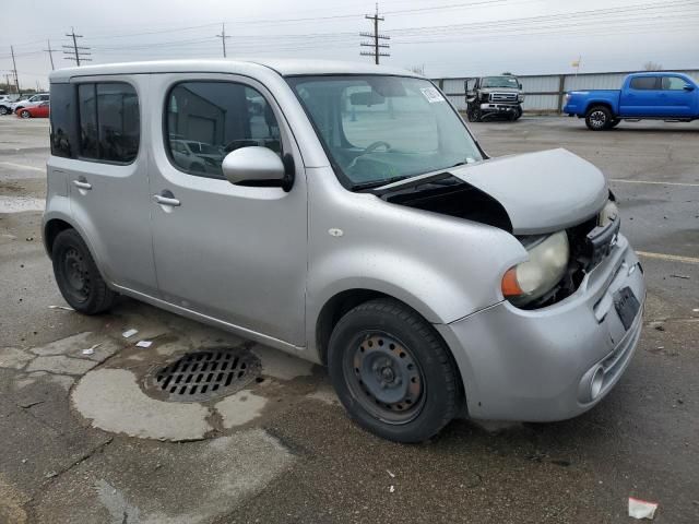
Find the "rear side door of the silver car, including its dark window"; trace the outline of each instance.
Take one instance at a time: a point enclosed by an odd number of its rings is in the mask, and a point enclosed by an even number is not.
[[[147,75],[73,79],[78,121],[69,132],[78,146],[74,159],[57,168],[68,171],[72,216],[104,276],[154,295],[147,148],[141,140],[147,131],[141,118],[146,87]]]

